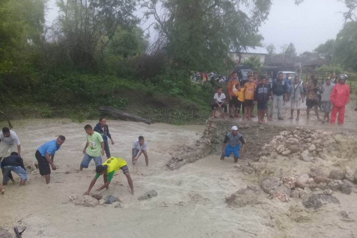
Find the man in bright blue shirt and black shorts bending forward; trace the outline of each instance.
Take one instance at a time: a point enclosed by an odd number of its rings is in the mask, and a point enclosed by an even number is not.
[[[56,166],[53,163],[55,153],[61,148],[63,142],[65,142],[66,138],[64,136],[59,136],[56,140],[52,140],[41,145],[36,153],[35,157],[39,164],[39,171],[41,176],[45,176],[46,183],[50,183],[50,164],[52,170],[56,170]]]

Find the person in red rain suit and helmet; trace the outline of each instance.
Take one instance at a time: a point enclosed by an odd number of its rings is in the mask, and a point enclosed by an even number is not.
[[[335,123],[338,112],[338,125],[345,121],[345,106],[350,101],[350,86],[346,83],[347,75],[342,74],[333,87],[330,100],[332,103],[331,123]]]

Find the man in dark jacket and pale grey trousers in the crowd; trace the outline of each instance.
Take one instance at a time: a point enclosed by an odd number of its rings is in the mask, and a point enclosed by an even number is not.
[[[286,95],[286,85],[283,80],[283,72],[278,73],[277,79],[273,80],[272,91],[270,93],[271,99],[273,100],[271,109],[270,109],[270,118],[272,118],[274,113],[274,108],[278,108],[278,119],[283,120],[281,117],[281,108],[283,106],[283,96]]]

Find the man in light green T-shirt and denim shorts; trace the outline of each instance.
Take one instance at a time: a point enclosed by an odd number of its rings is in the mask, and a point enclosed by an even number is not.
[[[104,155],[104,141],[102,136],[93,131],[92,126],[87,124],[84,127],[87,133],[87,143],[83,149],[84,157],[82,159],[81,167],[79,171],[83,168],[88,168],[89,162],[93,159],[95,166],[102,164],[102,155]]]

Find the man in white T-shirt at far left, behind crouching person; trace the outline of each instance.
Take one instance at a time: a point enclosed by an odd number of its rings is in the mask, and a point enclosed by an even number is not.
[[[0,162],[1,159],[7,155],[9,148],[11,152],[17,151],[17,153],[20,155],[20,140],[14,131],[11,131],[8,127],[2,128],[2,131],[0,132],[0,140]],[[14,178],[12,178],[11,173],[9,174],[9,178],[12,182],[15,182]]]

